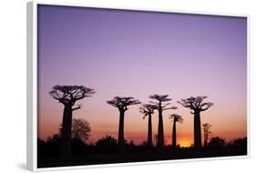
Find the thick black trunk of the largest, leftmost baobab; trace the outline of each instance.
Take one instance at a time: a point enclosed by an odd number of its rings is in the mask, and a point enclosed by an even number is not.
[[[61,153],[62,159],[71,156],[71,126],[72,126],[72,106],[65,105],[61,128]]]

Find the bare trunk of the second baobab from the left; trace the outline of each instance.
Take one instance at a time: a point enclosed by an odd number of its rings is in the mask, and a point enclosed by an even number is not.
[[[119,154],[124,154],[124,152],[125,152],[124,121],[125,121],[125,111],[120,111],[119,129],[118,129],[118,151],[119,151]]]

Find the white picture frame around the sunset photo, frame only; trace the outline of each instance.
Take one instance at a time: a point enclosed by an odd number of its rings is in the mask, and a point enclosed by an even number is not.
[[[181,160],[164,160],[164,161],[150,161],[150,162],[133,162],[133,163],[118,163],[110,165],[90,165],[90,166],[76,166],[76,167],[63,167],[63,168],[37,168],[37,5],[67,5],[67,6],[79,6],[79,7],[96,7],[96,8],[110,8],[119,10],[135,10],[135,11],[149,11],[149,12],[167,12],[167,13],[181,13],[181,14],[195,14],[195,15],[223,15],[223,16],[239,16],[247,17],[247,74],[249,74],[249,15],[238,15],[238,14],[212,14],[207,12],[193,12],[193,11],[177,11],[171,9],[150,9],[140,8],[131,6],[115,6],[115,5],[94,5],[93,3],[63,3],[63,2],[45,2],[45,1],[33,1],[27,3],[27,138],[26,138],[26,160],[27,168],[31,171],[37,170],[61,170],[61,169],[73,169],[73,168],[104,168],[104,167],[115,167],[115,166],[130,166],[130,165],[144,165],[144,164],[159,164],[159,163],[172,163],[172,162],[184,162],[184,161],[195,161],[195,160],[211,160],[211,159],[230,159],[230,158],[249,158],[250,156],[250,112],[249,112],[249,87],[247,88],[247,155],[246,156],[234,156],[234,157],[221,157],[221,158],[192,158],[192,159],[181,159]],[[247,86],[249,86],[249,77],[247,75]]]

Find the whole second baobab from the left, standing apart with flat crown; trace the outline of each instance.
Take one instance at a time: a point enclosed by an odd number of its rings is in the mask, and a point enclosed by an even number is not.
[[[118,149],[119,153],[123,154],[125,151],[125,138],[124,138],[124,121],[125,112],[128,110],[128,106],[138,105],[140,102],[134,97],[114,97],[107,103],[113,107],[117,107],[119,110],[119,127],[118,127]]]

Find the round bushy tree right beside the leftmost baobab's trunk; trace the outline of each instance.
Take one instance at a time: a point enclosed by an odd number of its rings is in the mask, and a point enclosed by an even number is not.
[[[80,138],[84,143],[90,136],[91,127],[86,119],[73,118],[72,120],[72,137]]]

